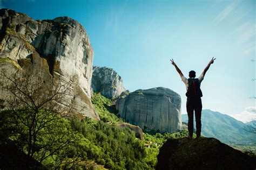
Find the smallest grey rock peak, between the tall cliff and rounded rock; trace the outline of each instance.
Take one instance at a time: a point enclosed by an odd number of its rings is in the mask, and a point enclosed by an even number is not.
[[[125,91],[122,77],[112,68],[107,67],[93,67],[91,87],[93,92],[109,99],[117,98]]]

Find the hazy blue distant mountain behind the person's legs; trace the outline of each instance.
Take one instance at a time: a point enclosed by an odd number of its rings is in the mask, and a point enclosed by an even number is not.
[[[187,123],[187,115],[181,115],[182,122]],[[203,110],[201,116],[202,135],[217,138],[228,144],[256,145],[256,133],[249,132],[248,126],[231,116],[211,110]],[[195,118],[194,118],[194,124]],[[194,126],[196,128],[196,126]]]

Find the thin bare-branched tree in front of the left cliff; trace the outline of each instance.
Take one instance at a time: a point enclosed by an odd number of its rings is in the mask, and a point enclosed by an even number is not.
[[[44,79],[33,70],[18,69],[14,73],[2,70],[0,76],[2,90],[8,92],[4,98],[6,110],[1,112],[1,123],[5,124],[1,131],[9,129],[8,137],[26,151],[26,168],[30,168],[32,158],[43,162],[57,152],[68,150],[74,139],[65,117],[72,111],[73,82],[57,77]],[[3,118],[7,122],[3,123]],[[64,161],[57,159],[58,165]]]

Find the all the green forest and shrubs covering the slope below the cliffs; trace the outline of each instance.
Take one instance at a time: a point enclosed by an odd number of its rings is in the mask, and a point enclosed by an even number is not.
[[[103,121],[88,117],[82,121],[67,119],[48,110],[38,110],[37,120],[42,120],[38,125],[43,124],[44,128],[35,129],[33,158],[46,168],[89,168],[98,164],[98,167],[102,165],[109,169],[154,169],[159,147],[169,138],[187,136],[187,130],[173,134],[144,133],[145,140],[141,141],[130,129],[116,128],[114,123],[122,122],[122,119],[110,107],[111,100],[94,94],[92,102]],[[12,140],[24,152],[28,151],[29,112],[30,108],[1,111],[2,144]]]

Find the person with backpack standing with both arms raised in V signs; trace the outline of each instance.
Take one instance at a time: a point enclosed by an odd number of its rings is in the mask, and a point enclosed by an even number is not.
[[[203,73],[196,79],[196,72],[194,70],[191,70],[188,73],[188,76],[190,77],[187,79],[181,72],[181,70],[178,68],[176,63],[171,60],[172,65],[176,68],[177,72],[179,73],[181,80],[185,83],[186,89],[187,89],[187,103],[186,103],[186,108],[187,108],[187,116],[188,116],[188,133],[189,139],[192,139],[193,137],[193,129],[194,129],[194,124],[193,124],[193,117],[194,117],[194,112],[196,116],[196,127],[197,127],[197,138],[201,136],[201,111],[202,111],[202,102],[201,102],[201,97],[203,96],[202,91],[200,89],[201,82],[204,80],[205,73],[207,70],[210,68],[211,64],[214,62],[214,58],[211,59],[211,61],[208,63],[208,65],[205,67]]]

